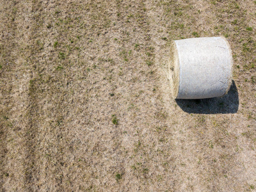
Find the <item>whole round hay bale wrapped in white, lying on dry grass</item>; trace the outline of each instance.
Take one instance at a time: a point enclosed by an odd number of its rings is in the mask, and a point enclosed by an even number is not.
[[[176,99],[221,97],[232,83],[232,53],[223,37],[175,40],[170,54]]]

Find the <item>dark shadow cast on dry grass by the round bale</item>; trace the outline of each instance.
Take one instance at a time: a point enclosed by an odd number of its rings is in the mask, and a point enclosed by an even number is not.
[[[178,106],[187,113],[218,114],[236,113],[239,106],[239,97],[236,84],[232,86],[227,95],[211,99],[176,99]]]

